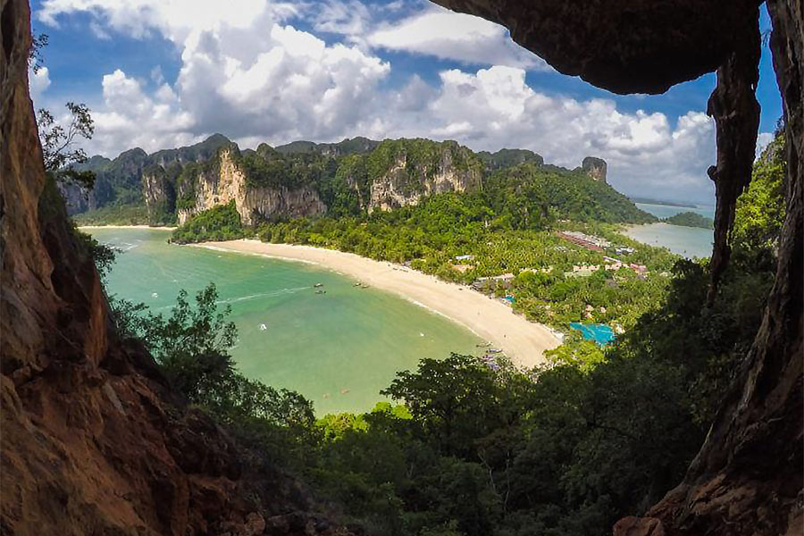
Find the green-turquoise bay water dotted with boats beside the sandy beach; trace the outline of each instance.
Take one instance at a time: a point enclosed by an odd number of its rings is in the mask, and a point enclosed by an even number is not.
[[[311,264],[171,246],[169,231],[93,229],[124,250],[107,290],[170,314],[180,289],[191,296],[214,281],[239,331],[239,370],[312,400],[316,413],[364,411],[395,373],[423,357],[475,353],[482,342],[444,317]],[[316,294],[322,283],[326,294]],[[265,329],[261,329],[264,324]]]

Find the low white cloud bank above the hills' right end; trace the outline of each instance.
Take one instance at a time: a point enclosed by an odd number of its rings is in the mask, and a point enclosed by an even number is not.
[[[623,113],[613,100],[547,96],[509,67],[444,71],[440,79],[421,111],[386,115],[389,135],[453,138],[476,150],[529,148],[569,168],[594,155],[607,160],[609,181],[626,193],[711,196],[706,170],[715,135],[704,113],[686,113],[673,126],[663,113]]]

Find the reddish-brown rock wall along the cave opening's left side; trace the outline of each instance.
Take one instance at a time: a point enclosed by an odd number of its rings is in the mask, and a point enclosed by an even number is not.
[[[0,532],[348,534],[287,475],[245,461],[122,341],[46,184],[29,98],[29,6],[0,0]],[[248,467],[248,471],[244,468]]]

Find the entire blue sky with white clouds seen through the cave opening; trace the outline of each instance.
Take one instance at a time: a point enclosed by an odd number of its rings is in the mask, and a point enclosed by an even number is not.
[[[455,139],[531,149],[568,168],[593,155],[627,195],[714,203],[706,115],[715,75],[618,96],[554,71],[507,29],[425,0],[35,0],[37,108],[86,103],[90,155],[196,143]],[[769,21],[762,9],[760,29]],[[759,141],[782,113],[767,46]]]

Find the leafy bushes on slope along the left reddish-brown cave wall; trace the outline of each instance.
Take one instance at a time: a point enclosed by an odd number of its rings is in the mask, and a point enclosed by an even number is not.
[[[214,284],[198,292],[195,306],[180,291],[171,315],[150,314],[144,304],[112,300],[118,331],[141,339],[166,379],[188,401],[202,406],[245,444],[271,462],[305,458],[315,433],[313,405],[294,391],[273,389],[239,373],[229,350],[237,330],[217,307]]]

